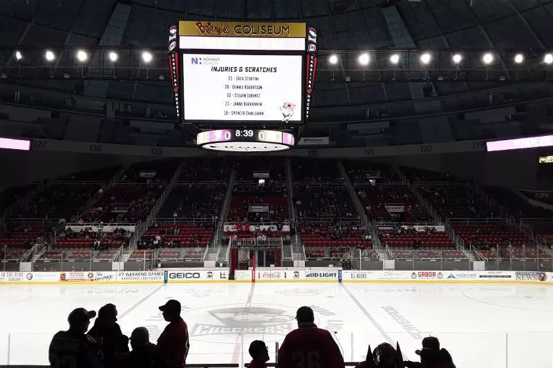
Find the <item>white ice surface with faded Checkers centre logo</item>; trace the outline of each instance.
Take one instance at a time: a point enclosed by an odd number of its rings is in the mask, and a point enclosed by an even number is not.
[[[508,284],[221,283],[46,285],[0,287],[0,364],[47,363],[50,338],[67,328],[75,307],[97,311],[113,302],[130,336],[145,326],[151,340],[165,327],[158,306],[182,303],[188,362],[249,362],[252,340],[275,343],[296,327],[298,307],[315,310],[319,327],[335,331],[346,361],[363,360],[370,343],[400,342],[415,360],[432,335],[458,368],[551,368],[553,287]],[[271,361],[274,361],[272,358]]]

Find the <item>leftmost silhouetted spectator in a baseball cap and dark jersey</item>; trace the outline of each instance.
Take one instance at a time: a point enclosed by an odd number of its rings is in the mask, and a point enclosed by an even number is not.
[[[64,367],[64,362],[75,362],[79,368],[103,368],[104,354],[100,345],[90,336],[86,336],[86,330],[95,318],[95,311],[87,311],[84,308],[73,309],[67,318],[69,329],[58,331],[48,348],[48,360],[51,367]]]

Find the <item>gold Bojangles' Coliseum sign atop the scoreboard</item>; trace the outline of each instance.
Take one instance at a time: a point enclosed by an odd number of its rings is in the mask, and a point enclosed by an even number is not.
[[[305,38],[306,23],[180,21],[178,22],[178,35]]]

